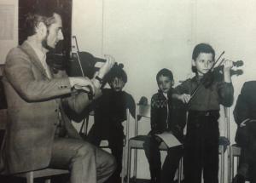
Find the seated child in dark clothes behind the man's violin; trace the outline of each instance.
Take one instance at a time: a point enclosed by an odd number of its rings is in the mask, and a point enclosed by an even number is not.
[[[131,94],[123,91],[127,75],[122,66],[115,66],[108,74],[108,84],[111,89],[102,89],[102,97],[96,102],[95,123],[88,134],[88,140],[99,146],[101,140],[108,140],[108,146],[116,158],[117,169],[109,182],[121,182],[124,128],[122,122],[126,120],[126,109],[135,117],[135,101]],[[143,98],[144,102],[145,98]],[[140,101],[143,101],[142,99]]]

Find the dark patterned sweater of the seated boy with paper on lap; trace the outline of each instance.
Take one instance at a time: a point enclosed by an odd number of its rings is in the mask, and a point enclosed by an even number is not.
[[[186,111],[181,101],[172,99],[171,93],[167,95],[168,100],[160,91],[152,96],[150,134],[172,131],[177,139],[182,141]]]

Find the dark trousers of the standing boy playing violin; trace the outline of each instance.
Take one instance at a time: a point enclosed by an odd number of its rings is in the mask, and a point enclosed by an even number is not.
[[[218,111],[189,111],[184,144],[186,183],[218,183]]]

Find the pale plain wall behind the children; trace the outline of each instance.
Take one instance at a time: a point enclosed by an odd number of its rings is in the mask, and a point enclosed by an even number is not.
[[[155,75],[163,67],[173,71],[176,84],[191,77],[195,44],[210,43],[217,56],[225,51],[224,58],[244,61],[244,73],[232,77],[235,105],[242,84],[256,78],[255,9],[253,0],[73,0],[73,35],[79,37],[80,50],[112,54],[125,65],[125,90],[137,101],[143,95],[150,101],[157,91]],[[231,143],[236,132],[234,105]],[[226,134],[223,117],[219,123],[221,134]],[[146,134],[148,125],[142,123],[140,133]],[[138,177],[148,177],[143,152],[141,156]]]

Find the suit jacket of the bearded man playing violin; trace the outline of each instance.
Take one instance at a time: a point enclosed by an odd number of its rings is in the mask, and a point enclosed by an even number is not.
[[[43,169],[49,165],[60,117],[67,135],[79,138],[61,104],[66,103],[75,112],[82,112],[90,103],[88,95],[72,94],[66,74],[49,79],[38,56],[26,42],[10,50],[3,84],[9,106],[2,147],[5,171],[13,174]]]

